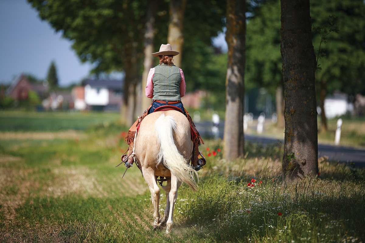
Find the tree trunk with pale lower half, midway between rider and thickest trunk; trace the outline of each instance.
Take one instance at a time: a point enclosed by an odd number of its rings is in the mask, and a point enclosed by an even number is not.
[[[223,142],[223,157],[226,160],[234,160],[245,153],[245,138],[243,136],[245,32],[245,1],[227,0],[228,63]]]

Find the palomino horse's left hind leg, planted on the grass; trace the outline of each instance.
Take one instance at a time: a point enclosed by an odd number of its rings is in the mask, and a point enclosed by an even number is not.
[[[155,173],[153,169],[151,168],[143,168],[143,176],[145,177],[145,180],[150,188],[151,192],[151,201],[153,205],[153,230],[157,230],[161,227],[160,222],[160,213],[158,212],[158,207],[160,203],[160,188],[158,188],[156,179],[155,179]]]

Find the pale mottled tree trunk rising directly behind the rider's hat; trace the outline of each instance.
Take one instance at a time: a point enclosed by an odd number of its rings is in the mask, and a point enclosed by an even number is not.
[[[174,56],[173,62],[177,67],[181,66],[181,52],[183,50],[184,35],[183,22],[187,0],[170,0],[170,24],[167,42],[171,45],[172,50],[180,52]]]

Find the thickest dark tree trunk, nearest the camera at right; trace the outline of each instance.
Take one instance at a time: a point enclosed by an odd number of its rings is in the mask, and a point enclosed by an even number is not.
[[[309,0],[281,0],[285,180],[318,174],[316,60]]]

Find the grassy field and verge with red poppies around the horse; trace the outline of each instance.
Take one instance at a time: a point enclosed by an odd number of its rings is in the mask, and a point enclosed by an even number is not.
[[[118,118],[0,112],[0,242],[365,241],[364,169],[320,158],[318,177],[283,184],[280,144],[224,161],[220,140],[200,147],[207,165],[197,192],[180,187],[173,232],[153,231],[141,172],[115,168],[127,148]]]

